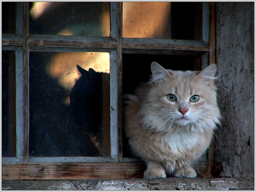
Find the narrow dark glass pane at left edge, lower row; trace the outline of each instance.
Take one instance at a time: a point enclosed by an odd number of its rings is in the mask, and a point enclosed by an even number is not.
[[[2,157],[16,156],[15,52],[2,51]]]

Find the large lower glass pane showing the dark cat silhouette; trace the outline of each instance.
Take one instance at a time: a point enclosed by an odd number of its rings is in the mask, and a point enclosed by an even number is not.
[[[109,75],[109,53],[30,52],[30,156],[109,156]]]

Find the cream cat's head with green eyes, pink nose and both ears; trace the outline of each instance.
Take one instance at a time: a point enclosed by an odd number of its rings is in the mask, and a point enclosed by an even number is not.
[[[168,127],[173,123],[185,127],[196,125],[200,130],[204,124],[208,124],[208,119],[219,114],[213,84],[215,71],[214,65],[201,73],[166,70],[153,65],[152,89],[148,96],[154,104],[152,112],[169,122]],[[198,126],[200,124],[202,126]]]

